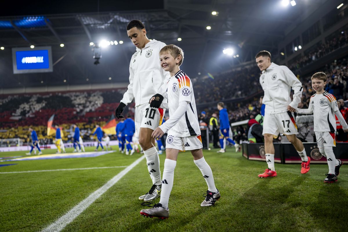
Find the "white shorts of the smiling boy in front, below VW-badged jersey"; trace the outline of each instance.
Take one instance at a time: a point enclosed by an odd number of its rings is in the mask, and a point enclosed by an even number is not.
[[[167,148],[180,151],[191,151],[203,148],[203,144],[200,135],[197,137],[177,137],[174,135],[168,135],[166,140],[166,149]]]

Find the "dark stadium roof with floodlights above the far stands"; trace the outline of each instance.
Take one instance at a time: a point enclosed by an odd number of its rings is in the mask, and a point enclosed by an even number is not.
[[[0,17],[0,46],[5,47],[0,51],[0,83],[5,88],[18,88],[79,85],[87,80],[127,82],[135,51],[126,34],[132,19],[145,24],[148,38],[182,47],[186,58],[182,69],[191,76],[221,72],[253,60],[259,50],[278,53],[277,44],[286,29],[326,1],[296,1],[296,7],[283,8],[279,0],[165,0],[164,8],[155,10]],[[100,64],[95,66],[89,43],[102,39],[124,43],[102,49]],[[30,45],[52,46],[53,73],[13,74],[10,48]],[[238,58],[223,56],[227,47],[233,48]]]

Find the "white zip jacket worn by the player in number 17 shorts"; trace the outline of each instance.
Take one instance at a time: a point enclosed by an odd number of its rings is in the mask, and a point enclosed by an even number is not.
[[[260,84],[264,91],[262,103],[266,105],[265,113],[286,112],[288,105],[296,109],[301,102],[302,83],[286,66],[271,63],[262,71]],[[294,90],[292,101],[291,88]]]

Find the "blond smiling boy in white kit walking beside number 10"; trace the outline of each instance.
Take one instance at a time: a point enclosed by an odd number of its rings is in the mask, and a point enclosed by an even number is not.
[[[203,157],[203,144],[200,138],[192,82],[180,70],[184,58],[183,51],[175,45],[167,45],[160,50],[159,55],[161,66],[171,75],[167,82],[167,102],[162,102],[162,106],[169,109],[169,119],[153,131],[152,137],[158,139],[168,131],[166,159],[160,201],[152,209],[141,210],[140,214],[163,219],[169,217],[169,195],[173,188],[174,169],[180,150],[191,151],[193,162],[201,171],[208,185],[206,198],[201,206],[213,206],[215,201],[219,200],[220,192],[215,187],[212,170]],[[156,101],[156,98],[152,97],[150,101]]]

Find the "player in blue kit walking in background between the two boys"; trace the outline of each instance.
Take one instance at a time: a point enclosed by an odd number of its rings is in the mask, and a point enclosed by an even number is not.
[[[226,144],[224,143],[224,138],[235,145],[236,147],[236,152],[238,151],[239,145],[235,143],[232,139],[229,137],[229,132],[230,132],[230,120],[228,119],[228,113],[227,109],[224,108],[223,102],[217,103],[217,109],[220,111],[219,112],[219,118],[220,118],[220,145],[221,149],[220,151],[217,151],[218,153],[224,153],[226,149]]]

